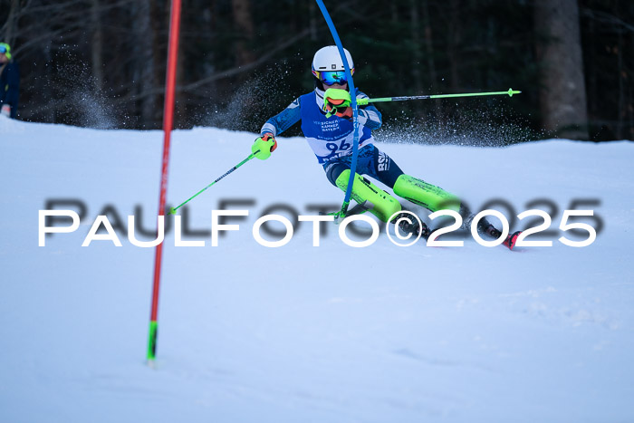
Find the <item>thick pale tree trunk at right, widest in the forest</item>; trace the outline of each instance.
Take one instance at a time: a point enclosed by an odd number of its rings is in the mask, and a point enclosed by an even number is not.
[[[535,25],[543,126],[563,138],[589,139],[577,0],[535,0]]]

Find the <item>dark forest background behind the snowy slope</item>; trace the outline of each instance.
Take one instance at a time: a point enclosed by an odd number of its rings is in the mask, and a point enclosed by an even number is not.
[[[381,139],[634,139],[634,1],[325,4],[370,97],[523,91],[381,104]],[[161,128],[169,8],[0,0],[0,41],[21,67],[19,119]],[[312,54],[331,43],[311,0],[183,0],[176,126],[258,131],[312,90]]]

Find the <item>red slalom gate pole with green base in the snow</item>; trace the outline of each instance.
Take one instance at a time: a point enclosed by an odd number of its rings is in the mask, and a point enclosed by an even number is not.
[[[174,124],[174,91],[178,57],[178,34],[180,32],[180,0],[172,0],[169,17],[168,72],[165,82],[165,104],[163,107],[163,164],[160,171],[159,216],[165,216],[165,197],[168,192],[169,139]],[[152,309],[149,315],[148,364],[152,366],[157,353],[159,333],[159,287],[163,243],[157,245],[154,255],[154,287]]]

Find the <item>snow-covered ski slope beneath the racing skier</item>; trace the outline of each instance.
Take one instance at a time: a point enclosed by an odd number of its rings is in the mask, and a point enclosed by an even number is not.
[[[177,247],[168,234],[152,370],[154,249],[125,234],[121,247],[81,245],[109,206],[123,227],[137,206],[154,226],[161,133],[5,119],[0,133],[2,422],[634,419],[629,142],[379,144],[475,209],[503,198],[516,215],[550,200],[556,230],[572,200],[594,201],[577,207],[603,222],[592,245],[562,245],[558,231],[552,247],[510,252],[471,237],[463,247],[399,248],[383,235],[352,248],[332,225],[313,247],[308,224],[288,245],[258,245],[251,227],[268,207],[316,215],[312,205],[341,204],[303,139],[280,139],[271,159],[245,164],[188,207],[189,228],[208,232],[220,200],[252,201],[230,207],[249,210],[229,222],[239,231],[217,247],[206,235],[187,238],[204,247]],[[176,131],[168,202],[244,159],[254,138]],[[86,216],[40,247],[38,210],[52,199],[74,199]]]

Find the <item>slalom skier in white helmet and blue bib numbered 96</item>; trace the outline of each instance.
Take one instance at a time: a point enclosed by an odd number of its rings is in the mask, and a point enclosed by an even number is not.
[[[353,74],[351,53],[346,49],[344,53]],[[255,139],[252,152],[257,159],[268,159],[277,148],[275,137],[302,120],[303,135],[322,165],[326,178],[345,192],[350,180],[354,128],[351,93],[337,46],[329,45],[315,53],[312,75],[314,91],[303,94],[281,113],[267,120],[260,130],[260,137]],[[359,89],[355,95],[358,99],[368,98]],[[416,220],[401,219],[399,212],[403,208],[399,200],[361,176],[367,175],[392,188],[397,196],[432,212],[441,209],[458,211],[464,217],[463,227],[470,226],[474,215],[460,205],[456,196],[441,187],[405,174],[394,160],[373,144],[372,130],[378,130],[381,126],[381,114],[376,107],[371,104],[361,106],[358,119],[359,154],[352,199],[359,204],[365,202],[370,207],[370,213],[383,222],[387,223],[391,218],[390,222],[399,222],[400,229],[406,233],[420,233],[426,239],[429,236],[430,231],[425,223],[421,222],[422,226],[419,227]],[[478,232],[493,238],[501,236],[501,232],[485,218],[478,222]],[[508,236],[504,245],[513,248],[518,234]]]

